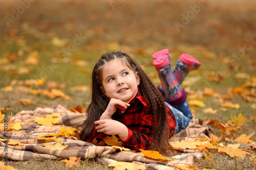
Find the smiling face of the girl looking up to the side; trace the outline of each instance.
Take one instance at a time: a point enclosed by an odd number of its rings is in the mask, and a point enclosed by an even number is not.
[[[113,60],[103,66],[101,75],[101,91],[108,98],[128,101],[137,91],[140,84],[138,72],[123,65],[120,60]]]

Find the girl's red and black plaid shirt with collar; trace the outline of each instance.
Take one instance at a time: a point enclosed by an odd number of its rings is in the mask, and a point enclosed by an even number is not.
[[[176,120],[173,112],[166,106],[169,134],[173,136]],[[135,98],[130,102],[130,106],[121,112],[119,109],[112,115],[112,119],[124,124],[129,134],[126,141],[123,141],[125,147],[131,148],[132,150],[149,150],[152,143],[152,132],[153,132],[153,113],[151,105],[146,104],[145,98],[140,94],[139,90]],[[89,140],[94,138],[99,142],[102,141],[106,134],[96,131],[96,126],[93,132],[89,136]]]

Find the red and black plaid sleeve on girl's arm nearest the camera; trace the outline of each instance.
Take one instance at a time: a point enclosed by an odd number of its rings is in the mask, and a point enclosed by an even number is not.
[[[138,151],[139,149],[149,150],[152,144],[153,113],[151,109],[146,109],[142,113],[140,123],[134,128],[128,128],[129,133],[123,143],[126,147]]]

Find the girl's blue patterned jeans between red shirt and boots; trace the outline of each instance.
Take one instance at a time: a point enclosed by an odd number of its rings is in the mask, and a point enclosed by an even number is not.
[[[165,104],[172,110],[176,118],[176,127],[174,134],[177,134],[182,129],[185,129],[188,126],[188,123],[193,119],[193,115],[189,108],[187,101],[178,106],[171,106],[167,102]]]

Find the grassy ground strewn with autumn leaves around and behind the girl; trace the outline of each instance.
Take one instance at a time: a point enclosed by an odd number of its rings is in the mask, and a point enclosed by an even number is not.
[[[131,54],[158,85],[151,56],[168,48],[172,66],[182,53],[190,54],[202,63],[200,69],[191,72],[182,84],[188,92],[189,89],[194,91],[190,92],[190,96],[196,94],[197,99],[206,105],[204,108],[194,107],[196,117],[204,121],[217,119],[225,124],[232,115],[242,113],[247,118],[246,123],[233,135],[238,137],[255,132],[255,84],[246,87],[251,92],[247,95],[250,102],[241,95],[232,96],[229,100],[203,95],[204,88],[227,95],[230,89],[240,87],[246,81],[251,82],[251,78],[255,77],[254,2],[200,2],[35,1],[27,5],[1,2],[1,111],[16,114],[21,110],[55,104],[67,108],[87,106],[91,70],[101,54],[111,50]],[[29,57],[34,60],[26,61]],[[28,83],[28,80],[40,78],[45,78],[41,85]],[[58,89],[69,95],[72,101],[31,94],[26,92],[27,88]],[[33,103],[24,105],[20,99],[33,99]],[[241,107],[223,110],[220,104],[227,101],[238,103]],[[217,112],[206,113],[205,108]],[[212,126],[211,129],[215,135],[222,135],[218,128]],[[251,139],[255,141],[255,135]],[[220,142],[236,143],[232,138]],[[249,149],[248,145],[242,147]],[[249,156],[240,160],[219,154],[216,150],[211,153],[216,154],[211,158],[212,163],[204,158],[200,162],[195,160],[198,168],[255,168]],[[250,156],[253,155],[255,152]],[[20,169],[65,169],[65,165],[52,160],[10,163]],[[85,160],[82,164],[83,169],[107,169],[93,160]]]

